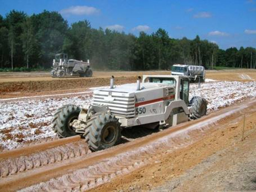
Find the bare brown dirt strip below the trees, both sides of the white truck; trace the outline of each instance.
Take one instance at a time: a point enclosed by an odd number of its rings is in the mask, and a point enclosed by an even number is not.
[[[0,98],[82,92],[89,87],[109,85],[110,76],[115,84],[135,82],[143,74],[170,74],[170,71],[95,71],[92,78],[51,78],[46,73],[0,73]],[[28,75],[31,75],[28,77]],[[20,76],[20,77],[18,77]],[[206,78],[226,81],[254,81],[256,70],[207,71]]]

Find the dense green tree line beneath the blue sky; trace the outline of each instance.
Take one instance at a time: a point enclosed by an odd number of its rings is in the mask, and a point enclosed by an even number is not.
[[[54,55],[62,52],[70,59],[90,59],[92,68],[101,70],[166,70],[174,63],[256,68],[253,47],[223,50],[199,36],[170,38],[162,28],[136,37],[94,29],[87,20],[69,26],[55,11],[28,16],[12,10],[0,15],[0,37],[0,68],[49,68]]]

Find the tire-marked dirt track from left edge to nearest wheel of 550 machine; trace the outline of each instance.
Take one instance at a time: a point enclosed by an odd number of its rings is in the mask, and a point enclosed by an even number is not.
[[[15,175],[62,160],[90,153],[80,136],[54,140],[0,153],[0,177]]]

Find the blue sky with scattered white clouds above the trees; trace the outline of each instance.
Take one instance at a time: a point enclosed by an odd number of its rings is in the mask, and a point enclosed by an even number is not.
[[[0,0],[0,15],[58,11],[69,25],[89,20],[93,28],[148,34],[165,29],[171,38],[199,35],[229,47],[256,48],[256,0]]]

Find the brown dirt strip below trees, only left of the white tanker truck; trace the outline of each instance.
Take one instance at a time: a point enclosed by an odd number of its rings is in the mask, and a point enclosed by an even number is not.
[[[170,71],[95,71],[92,78],[52,78],[49,73],[0,73],[0,98],[81,92],[88,87],[135,82],[143,74],[170,74]]]

